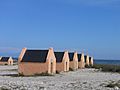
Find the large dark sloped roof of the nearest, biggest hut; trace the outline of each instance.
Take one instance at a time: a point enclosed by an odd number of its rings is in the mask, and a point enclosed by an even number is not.
[[[27,50],[21,62],[46,62],[48,50]]]

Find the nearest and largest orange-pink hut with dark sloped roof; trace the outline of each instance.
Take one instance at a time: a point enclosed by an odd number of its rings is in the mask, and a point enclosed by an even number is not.
[[[56,58],[53,49],[27,50],[23,48],[18,59],[18,72],[20,75],[56,73]]]

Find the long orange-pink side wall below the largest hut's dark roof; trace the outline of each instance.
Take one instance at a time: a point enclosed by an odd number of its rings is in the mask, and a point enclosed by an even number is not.
[[[40,73],[48,73],[48,64],[47,63],[19,63],[19,74],[21,75],[35,75]]]

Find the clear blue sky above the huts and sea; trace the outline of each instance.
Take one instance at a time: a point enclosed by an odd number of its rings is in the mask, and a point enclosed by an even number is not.
[[[0,0],[0,56],[23,47],[120,60],[120,0]]]

